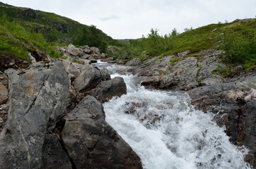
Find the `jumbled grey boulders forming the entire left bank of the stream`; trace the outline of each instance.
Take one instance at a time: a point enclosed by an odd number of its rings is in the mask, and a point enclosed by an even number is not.
[[[30,54],[31,65],[1,67],[0,168],[142,168],[100,103],[126,94],[122,77],[91,65],[97,48],[59,50],[66,60]]]

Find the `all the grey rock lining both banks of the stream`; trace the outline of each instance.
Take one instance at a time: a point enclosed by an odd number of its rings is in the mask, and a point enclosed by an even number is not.
[[[57,50],[66,59],[37,52],[30,54],[32,64],[1,62],[0,168],[142,168],[139,156],[105,122],[102,103],[127,94],[127,86],[92,63],[112,58],[88,46]],[[134,59],[117,72],[133,73],[149,89],[187,91],[194,106],[215,114],[231,143],[250,150],[245,161],[255,166],[255,71],[224,78],[218,73],[226,67],[217,57],[221,51],[188,53]]]

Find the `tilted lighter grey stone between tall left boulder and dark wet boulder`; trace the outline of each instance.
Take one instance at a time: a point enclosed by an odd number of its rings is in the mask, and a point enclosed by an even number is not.
[[[93,65],[85,64],[83,66],[85,70],[74,80],[72,84],[78,91],[86,89],[95,78],[95,68],[93,68]]]

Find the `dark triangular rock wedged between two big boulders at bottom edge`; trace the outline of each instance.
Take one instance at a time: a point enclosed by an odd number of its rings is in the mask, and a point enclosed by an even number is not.
[[[59,143],[58,138],[53,134],[45,134],[45,140],[42,146],[42,164],[40,168],[72,168],[69,157],[62,149],[62,145]]]

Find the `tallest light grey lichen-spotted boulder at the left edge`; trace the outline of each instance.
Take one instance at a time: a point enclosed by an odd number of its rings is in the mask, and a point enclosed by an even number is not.
[[[52,130],[69,101],[69,77],[62,62],[37,63],[13,75],[9,84],[0,168],[40,168],[45,133]]]

